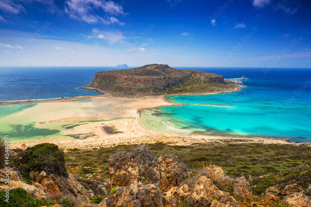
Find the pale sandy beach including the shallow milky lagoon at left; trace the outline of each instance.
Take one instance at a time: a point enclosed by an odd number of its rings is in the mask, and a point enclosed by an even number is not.
[[[173,145],[189,145],[192,143],[221,142],[224,140],[230,140],[230,142],[237,141],[239,143],[300,144],[289,143],[287,142],[288,140],[278,139],[159,133],[146,130],[138,124],[140,110],[160,106],[178,105],[166,101],[165,96],[150,99],[138,99],[101,95],[92,97],[71,97],[60,100],[38,102],[37,105],[14,113],[6,117],[6,119],[9,122],[16,122],[17,119],[19,123],[24,124],[27,122],[35,122],[36,128],[54,129],[58,124],[57,126],[60,129],[60,126],[69,125],[69,127],[62,127],[59,132],[59,134],[63,137],[67,136],[67,138],[53,139],[52,136],[52,138],[42,137],[39,140],[31,140],[29,142],[15,142],[10,144],[11,149],[23,148],[21,146],[22,144],[26,144],[26,146],[34,146],[43,142],[57,144],[64,150],[75,147],[86,149],[120,144],[155,142],[163,142]],[[81,122],[87,120],[93,121],[83,124],[72,124],[77,121]],[[72,125],[67,123],[71,123]],[[75,136],[82,136],[86,139],[72,138]]]

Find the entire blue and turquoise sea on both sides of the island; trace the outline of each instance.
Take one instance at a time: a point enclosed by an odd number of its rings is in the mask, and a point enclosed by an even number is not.
[[[143,110],[139,123],[144,128],[164,133],[311,142],[310,68],[174,68],[219,74],[245,87],[214,95],[168,96],[168,101],[184,105]],[[95,72],[106,70],[116,68],[0,67],[0,101],[100,95],[79,88],[90,83]],[[243,75],[245,79],[241,79]],[[0,106],[0,120],[9,107]],[[26,104],[19,110],[29,107],[32,105]]]

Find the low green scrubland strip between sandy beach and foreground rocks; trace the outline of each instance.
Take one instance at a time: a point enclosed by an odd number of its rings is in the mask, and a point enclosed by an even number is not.
[[[229,141],[229,142],[227,142]],[[176,155],[179,162],[184,162],[189,170],[197,161],[212,162],[223,167],[227,174],[234,177],[261,176],[269,173],[278,174],[281,170],[298,165],[310,165],[311,147],[307,145],[279,145],[260,143],[241,143],[247,140],[197,143],[190,146],[172,146],[163,143],[148,144],[149,149],[160,157],[163,154]],[[91,165],[94,168],[108,169],[108,159],[120,151],[134,151],[141,145],[118,145],[101,147],[97,150],[68,151],[65,153],[67,165]],[[108,172],[108,171],[107,171]]]

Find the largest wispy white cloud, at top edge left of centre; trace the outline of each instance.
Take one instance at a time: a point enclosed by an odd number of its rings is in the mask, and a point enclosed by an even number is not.
[[[124,25],[114,16],[100,17],[93,12],[93,9],[102,9],[110,15],[125,15],[123,7],[113,1],[105,0],[67,0],[65,12],[72,19],[82,20],[89,24],[103,23],[105,25]]]

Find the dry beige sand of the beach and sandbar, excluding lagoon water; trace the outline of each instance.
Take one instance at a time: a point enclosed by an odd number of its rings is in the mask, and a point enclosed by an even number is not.
[[[228,91],[235,92],[239,91],[241,88]],[[93,90],[93,89],[90,89]],[[103,92],[103,91],[101,91]],[[269,139],[269,138],[254,138],[254,137],[243,137],[243,136],[211,136],[211,135],[196,135],[196,134],[177,134],[177,133],[160,133],[156,131],[151,131],[143,128],[139,124],[139,119],[141,118],[141,111],[146,109],[156,109],[162,106],[173,106],[173,105],[184,105],[182,103],[173,103],[167,100],[168,96],[178,96],[178,95],[211,95],[211,94],[220,94],[228,92],[218,92],[218,93],[206,93],[206,94],[175,94],[175,95],[162,95],[157,98],[150,97],[150,99],[139,99],[139,98],[126,98],[126,97],[111,97],[108,94],[98,95],[98,96],[77,96],[77,97],[67,97],[57,100],[40,100],[40,101],[22,101],[22,102],[5,102],[0,104],[21,104],[21,103],[40,103],[42,104],[52,104],[57,107],[58,105],[72,103],[80,99],[91,99],[91,102],[84,103],[83,107],[90,106],[90,103],[93,105],[97,104],[102,107],[104,106],[113,106],[113,108],[108,111],[108,113],[103,114],[88,114],[86,116],[68,116],[62,117],[64,115],[56,116],[56,119],[52,119],[47,116],[44,117],[44,120],[37,121],[38,124],[44,126],[44,124],[53,124],[53,123],[66,123],[72,121],[96,121],[93,125],[87,126],[86,128],[80,127],[80,134],[90,134],[90,132],[97,135],[96,138],[92,139],[40,139],[33,140],[28,142],[14,142],[11,143],[11,148],[22,148],[22,144],[26,146],[34,146],[39,143],[49,142],[54,143],[62,147],[63,149],[68,148],[93,148],[100,146],[115,146],[118,144],[140,144],[140,143],[155,143],[163,142],[174,145],[190,145],[196,142],[215,142],[215,140],[247,140],[251,143],[278,143],[278,144],[294,144],[288,142],[289,139]],[[58,104],[58,105],[57,105]],[[76,103],[81,104],[81,103]],[[91,105],[92,107],[92,105]],[[57,108],[56,108],[57,109]],[[54,117],[55,118],[55,117]],[[103,128],[104,127],[114,127],[117,128],[119,132],[116,134],[107,134]],[[75,127],[74,127],[75,128]],[[77,127],[78,128],[78,127]],[[68,132],[69,131],[69,132]],[[74,130],[71,130],[74,131]],[[72,133],[70,130],[65,130],[67,135]],[[76,130],[78,131],[78,130]],[[64,132],[62,132],[64,133]],[[76,132],[75,132],[76,133]],[[76,133],[77,134],[77,133]],[[79,135],[79,134],[78,134]],[[307,142],[304,142],[307,143]]]

